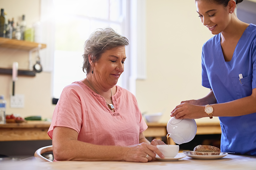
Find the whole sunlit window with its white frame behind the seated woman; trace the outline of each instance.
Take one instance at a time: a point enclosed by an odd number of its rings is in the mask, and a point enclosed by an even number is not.
[[[52,72],[52,94],[84,79],[83,46],[98,28],[112,27],[129,39],[125,71],[118,85],[135,94],[137,78],[145,78],[145,0],[44,0],[41,1],[44,71]],[[131,64],[132,63],[132,64]],[[138,66],[139,64],[139,66]]]

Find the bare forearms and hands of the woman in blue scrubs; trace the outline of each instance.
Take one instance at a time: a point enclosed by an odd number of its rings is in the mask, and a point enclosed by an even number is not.
[[[216,100],[214,100],[215,97],[213,98],[213,96],[213,93],[210,92],[202,99],[184,101],[172,110],[170,116],[175,116],[176,119],[208,117],[208,114],[204,111],[204,105],[206,104],[210,104],[213,107],[213,116],[216,117],[242,116],[256,113],[256,88],[252,90],[251,96],[221,104],[211,104]]]

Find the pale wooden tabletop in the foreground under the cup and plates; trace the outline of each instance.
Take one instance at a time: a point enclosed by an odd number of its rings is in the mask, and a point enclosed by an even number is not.
[[[126,161],[59,161],[59,162],[38,162],[38,161],[9,161],[1,162],[1,170],[9,169],[97,169],[97,170],[255,170],[255,156],[227,155],[215,160],[199,160],[185,157],[178,161],[151,161],[147,163],[126,162]]]

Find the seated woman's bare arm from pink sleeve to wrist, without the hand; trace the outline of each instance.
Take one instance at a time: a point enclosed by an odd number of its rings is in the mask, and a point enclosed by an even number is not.
[[[104,146],[77,141],[77,132],[68,127],[53,130],[53,154],[57,161],[119,161],[125,147]]]

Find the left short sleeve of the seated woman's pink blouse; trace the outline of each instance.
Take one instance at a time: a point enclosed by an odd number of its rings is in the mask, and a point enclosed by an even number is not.
[[[63,89],[48,130],[50,138],[52,138],[53,129],[56,126],[72,128],[79,134],[82,125],[82,107],[77,90],[76,84],[71,84]]]

